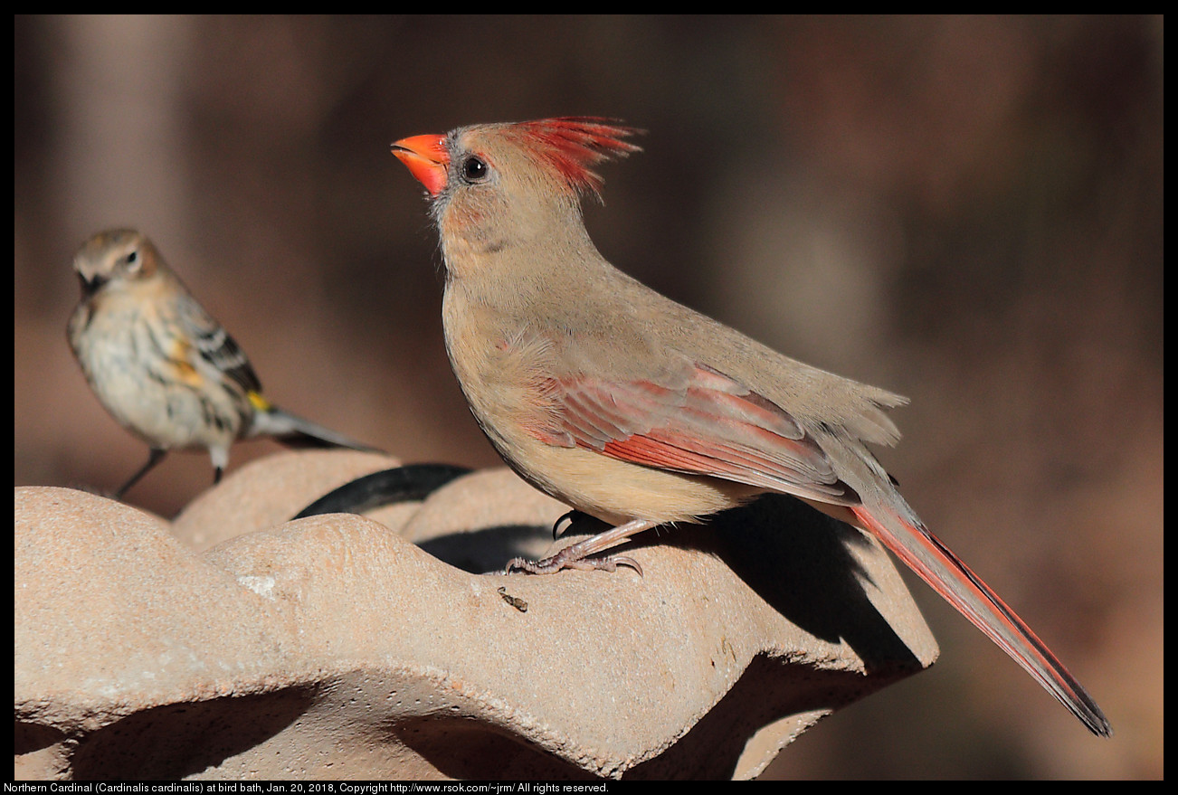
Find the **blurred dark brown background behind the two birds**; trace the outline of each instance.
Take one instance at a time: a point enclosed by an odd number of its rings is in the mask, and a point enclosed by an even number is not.
[[[393,139],[644,127],[588,225],[616,265],[912,397],[881,452],[1087,685],[1100,741],[912,578],[929,671],[781,777],[1162,777],[1163,65],[1157,16],[14,20],[15,484],[146,458],[65,342],[70,270],[139,226],[284,408],[405,461],[497,465],[442,344]],[[277,448],[233,449],[231,471]],[[207,488],[176,453],[128,493]],[[560,682],[552,682],[560,687]]]

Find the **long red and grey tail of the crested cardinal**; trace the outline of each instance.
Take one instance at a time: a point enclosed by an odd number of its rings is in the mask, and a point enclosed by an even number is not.
[[[1104,737],[1112,734],[1104,713],[1051,649],[937,536],[891,511],[881,521],[862,505],[851,510],[885,546],[1011,655],[1093,734]]]

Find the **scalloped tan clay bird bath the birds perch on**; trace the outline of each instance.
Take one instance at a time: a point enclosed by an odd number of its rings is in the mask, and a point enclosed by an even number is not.
[[[643,534],[644,576],[501,574],[568,510],[507,469],[290,521],[397,465],[271,456],[171,523],[18,488],[15,776],[747,779],[937,657],[874,541],[788,497]]]

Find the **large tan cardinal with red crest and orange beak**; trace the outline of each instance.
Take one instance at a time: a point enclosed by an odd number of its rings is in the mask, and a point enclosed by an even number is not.
[[[642,530],[777,491],[874,534],[1093,733],[1108,721],[1006,604],[921,523],[867,443],[905,399],[787,358],[659,294],[597,252],[581,194],[638,131],[558,118],[392,145],[431,197],[455,375],[529,483],[613,525],[508,568],[638,568],[589,558]]]

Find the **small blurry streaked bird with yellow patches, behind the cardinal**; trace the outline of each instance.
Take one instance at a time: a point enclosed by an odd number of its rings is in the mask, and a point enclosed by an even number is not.
[[[73,266],[81,303],[70,318],[70,346],[106,410],[151,445],[147,463],[115,498],[174,449],[209,450],[213,483],[233,442],[252,436],[294,448],[373,450],[266,400],[245,353],[146,236],[99,232]]]

